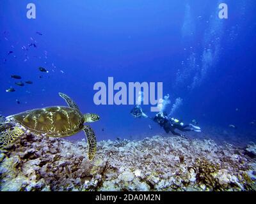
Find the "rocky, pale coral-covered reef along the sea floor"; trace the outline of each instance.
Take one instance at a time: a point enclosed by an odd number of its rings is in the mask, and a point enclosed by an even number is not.
[[[84,141],[24,135],[0,152],[1,191],[255,191],[253,154],[212,140]]]

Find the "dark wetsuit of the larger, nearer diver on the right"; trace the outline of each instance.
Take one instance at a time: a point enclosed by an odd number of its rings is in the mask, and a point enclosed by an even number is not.
[[[189,128],[189,125],[184,126],[179,120],[169,119],[165,113],[158,113],[153,120],[154,122],[157,122],[161,127],[163,127],[166,133],[171,132],[173,135],[182,136],[180,133],[176,133],[175,129],[179,129],[182,132],[188,132],[193,130]]]

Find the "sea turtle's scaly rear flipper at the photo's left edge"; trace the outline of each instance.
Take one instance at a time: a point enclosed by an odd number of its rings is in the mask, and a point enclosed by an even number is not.
[[[14,140],[24,134],[24,131],[18,127],[8,128],[0,133],[0,149],[3,149]]]

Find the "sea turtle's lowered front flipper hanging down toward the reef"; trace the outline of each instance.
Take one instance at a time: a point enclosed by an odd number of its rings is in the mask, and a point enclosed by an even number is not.
[[[96,153],[96,145],[97,145],[95,133],[90,126],[84,126],[83,131],[86,135],[87,142],[88,142],[88,158],[90,161],[92,161]]]

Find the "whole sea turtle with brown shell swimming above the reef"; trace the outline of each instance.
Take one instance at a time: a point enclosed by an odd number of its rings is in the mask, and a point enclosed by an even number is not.
[[[82,114],[76,103],[66,94],[59,93],[67,106],[51,106],[28,110],[10,115],[0,126],[0,149],[12,143],[24,133],[35,133],[50,137],[71,136],[83,130],[88,142],[88,159],[92,161],[96,152],[96,138],[93,129],[84,122],[95,122],[99,115]]]

